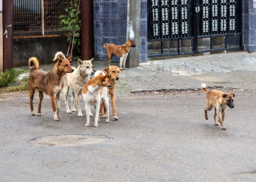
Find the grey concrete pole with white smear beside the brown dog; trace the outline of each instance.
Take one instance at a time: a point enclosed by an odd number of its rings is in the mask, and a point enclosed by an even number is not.
[[[140,0],[127,1],[127,40],[134,39],[136,45],[127,56],[127,68],[137,67],[140,62],[140,4]]]

